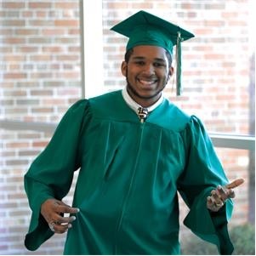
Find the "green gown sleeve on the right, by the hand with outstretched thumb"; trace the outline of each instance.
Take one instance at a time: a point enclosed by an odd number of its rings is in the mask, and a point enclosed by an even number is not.
[[[231,254],[234,247],[230,242],[227,224],[233,209],[232,200],[228,199],[225,206],[216,213],[207,208],[207,197],[211,191],[217,185],[226,185],[228,179],[211,139],[198,118],[191,117],[184,140],[186,164],[178,182],[179,193],[190,208],[184,224],[196,236],[216,244],[220,254]]]

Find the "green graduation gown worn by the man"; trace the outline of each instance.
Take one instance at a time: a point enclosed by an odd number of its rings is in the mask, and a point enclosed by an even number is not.
[[[73,207],[80,213],[65,254],[179,254],[177,191],[190,208],[185,225],[219,253],[232,253],[232,201],[218,213],[206,207],[210,191],[228,183],[223,168],[202,122],[168,100],[143,123],[122,91],[71,106],[25,175],[32,209],[28,249],[53,236],[41,204],[61,200],[78,168]]]

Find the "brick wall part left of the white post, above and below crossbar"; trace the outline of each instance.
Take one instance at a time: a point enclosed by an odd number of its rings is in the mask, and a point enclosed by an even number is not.
[[[1,118],[59,122],[82,92],[78,0],[0,6]],[[23,246],[31,215],[23,175],[51,136],[1,130],[0,254],[29,253]],[[63,242],[56,236],[36,253],[61,254]]]

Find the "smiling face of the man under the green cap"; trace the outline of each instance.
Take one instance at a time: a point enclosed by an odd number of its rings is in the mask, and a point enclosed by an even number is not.
[[[122,75],[127,78],[128,94],[144,107],[153,105],[160,98],[168,77],[173,73],[165,49],[157,46],[136,46],[128,63],[122,62]]]

